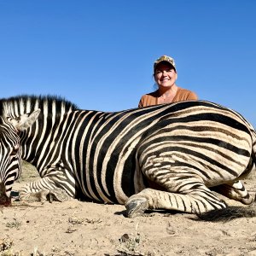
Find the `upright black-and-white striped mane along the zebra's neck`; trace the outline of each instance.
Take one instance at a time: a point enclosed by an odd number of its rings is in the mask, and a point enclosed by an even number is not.
[[[50,114],[53,107],[55,114],[78,110],[78,106],[61,96],[29,96],[20,95],[0,99],[0,115],[17,117],[22,113],[29,113],[40,108]]]

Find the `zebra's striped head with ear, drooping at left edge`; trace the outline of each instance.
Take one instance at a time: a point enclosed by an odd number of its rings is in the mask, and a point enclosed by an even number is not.
[[[0,204],[10,204],[10,193],[21,173],[20,131],[26,131],[36,119],[40,109],[12,118],[0,119]]]

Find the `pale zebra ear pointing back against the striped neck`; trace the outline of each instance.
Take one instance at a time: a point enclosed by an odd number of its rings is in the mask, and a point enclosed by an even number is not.
[[[15,125],[18,131],[25,131],[28,127],[30,127],[37,119],[41,110],[33,111],[32,113],[24,113],[21,114],[16,119],[11,119],[11,123]]]

